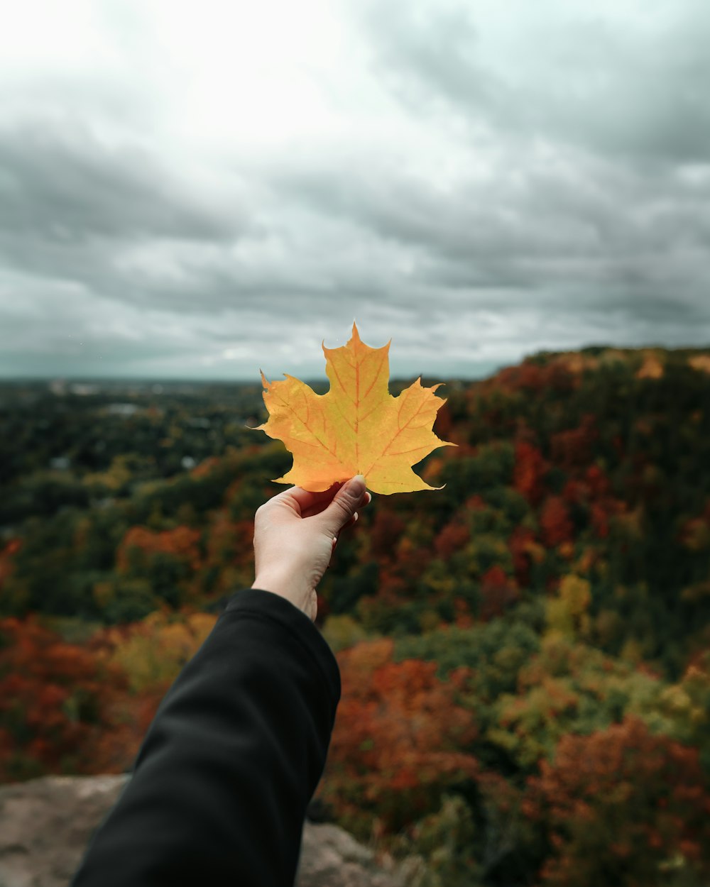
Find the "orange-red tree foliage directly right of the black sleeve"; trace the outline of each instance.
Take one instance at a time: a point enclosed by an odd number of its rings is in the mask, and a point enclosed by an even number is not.
[[[437,663],[393,663],[392,648],[378,640],[338,655],[343,696],[324,794],[340,815],[369,809],[396,831],[436,810],[441,789],[475,775],[477,764],[464,751],[476,727],[457,703],[465,675],[445,683]]]

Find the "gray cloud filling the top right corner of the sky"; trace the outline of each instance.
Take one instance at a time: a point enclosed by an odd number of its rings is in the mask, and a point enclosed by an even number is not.
[[[710,8],[635,6],[399,0],[368,5],[364,25],[378,74],[412,108],[637,160],[706,161]]]

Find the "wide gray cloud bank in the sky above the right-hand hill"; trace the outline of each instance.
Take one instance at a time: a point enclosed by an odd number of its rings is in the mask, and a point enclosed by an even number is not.
[[[640,315],[664,306],[675,316],[685,300],[707,318],[710,177],[690,190],[674,169],[620,169],[568,149],[521,156],[441,192],[394,167],[344,176],[322,161],[281,174],[280,188],[409,247],[415,279],[446,292],[448,304],[514,307],[534,297],[544,308],[566,293]]]

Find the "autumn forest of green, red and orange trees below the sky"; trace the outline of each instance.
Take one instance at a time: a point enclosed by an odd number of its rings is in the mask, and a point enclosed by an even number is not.
[[[710,350],[439,394],[457,445],[416,470],[443,489],[375,496],[319,588],[319,817],[425,887],[707,887]],[[253,581],[290,466],[264,418],[258,384],[0,386],[0,781],[130,769]]]

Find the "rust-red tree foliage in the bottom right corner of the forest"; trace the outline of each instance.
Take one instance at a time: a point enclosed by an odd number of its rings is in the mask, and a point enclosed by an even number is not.
[[[542,761],[540,776],[529,781],[524,805],[531,819],[546,824],[554,848],[540,883],[596,887],[615,872],[615,883],[642,887],[661,883],[663,865],[679,856],[704,883],[707,789],[698,750],[651,734],[638,719],[564,736],[554,763]]]

